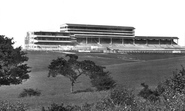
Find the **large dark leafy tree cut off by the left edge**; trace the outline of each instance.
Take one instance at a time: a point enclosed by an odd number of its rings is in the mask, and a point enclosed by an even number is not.
[[[20,84],[29,79],[30,67],[25,63],[28,57],[21,47],[13,47],[12,40],[0,35],[0,85]]]

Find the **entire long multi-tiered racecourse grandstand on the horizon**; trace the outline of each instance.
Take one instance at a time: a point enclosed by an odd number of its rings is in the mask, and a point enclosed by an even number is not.
[[[135,36],[135,28],[64,24],[60,32],[27,32],[26,50],[119,53],[185,53],[178,37]]]

